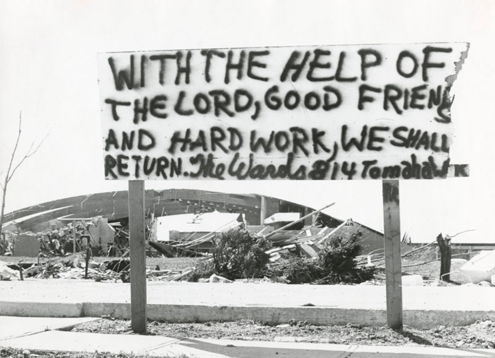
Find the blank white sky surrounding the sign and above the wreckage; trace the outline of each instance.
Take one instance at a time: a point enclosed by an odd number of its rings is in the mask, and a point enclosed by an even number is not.
[[[470,42],[454,84],[451,162],[468,179],[400,182],[401,228],[494,242],[495,3],[478,1],[24,1],[0,0],[0,179],[13,149],[49,137],[9,183],[6,212],[57,198],[127,188],[105,181],[97,53],[183,48]],[[163,181],[271,195],[383,229],[380,181]]]

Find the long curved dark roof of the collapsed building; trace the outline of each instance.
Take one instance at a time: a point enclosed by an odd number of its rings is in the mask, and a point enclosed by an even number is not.
[[[266,215],[277,212],[300,212],[302,215],[313,211],[311,208],[278,198],[265,197]],[[5,215],[4,222],[15,222],[20,230],[32,230],[38,224],[54,219],[76,220],[102,216],[111,221],[127,220],[128,192],[113,191],[73,196],[35,206],[23,208]],[[155,217],[185,213],[236,212],[245,214],[251,225],[260,224],[261,196],[256,194],[228,194],[193,189],[153,189],[145,192],[146,214]],[[322,215],[325,224],[338,225],[341,220]],[[330,223],[331,221],[334,221]],[[309,223],[306,223],[309,224]]]

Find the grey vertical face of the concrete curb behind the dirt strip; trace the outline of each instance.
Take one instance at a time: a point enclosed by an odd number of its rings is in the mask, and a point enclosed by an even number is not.
[[[101,317],[131,318],[129,303],[26,303],[1,302],[0,315],[31,317]],[[404,310],[404,324],[429,329],[439,325],[469,325],[478,319],[492,319],[495,311]],[[264,307],[148,304],[148,318],[169,322],[207,322],[252,319],[271,324],[290,320],[316,325],[387,324],[386,310],[343,309],[334,307]]]

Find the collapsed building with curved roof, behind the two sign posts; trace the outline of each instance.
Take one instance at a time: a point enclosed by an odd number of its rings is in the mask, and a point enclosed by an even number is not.
[[[238,226],[270,235],[276,247],[302,248],[307,255],[313,255],[308,244],[321,244],[335,235],[359,230],[362,254],[383,252],[383,234],[377,230],[321,212],[311,215],[313,208],[268,196],[191,189],[146,190],[145,210],[149,242],[180,243],[195,252],[207,252],[215,233]],[[2,233],[42,233],[40,242],[45,251],[63,245],[59,251],[76,252],[90,243],[94,255],[111,256],[115,252],[109,250],[125,246],[122,244],[128,236],[128,212],[127,191],[74,196],[6,214]],[[303,217],[306,218],[297,221]],[[284,230],[270,234],[284,226]],[[66,240],[57,243],[59,238]]]

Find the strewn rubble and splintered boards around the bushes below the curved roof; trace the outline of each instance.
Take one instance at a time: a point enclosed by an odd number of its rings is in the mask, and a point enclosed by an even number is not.
[[[226,228],[245,227],[252,234],[257,234],[266,239],[271,247],[263,252],[269,255],[271,266],[281,263],[286,264],[287,258],[301,258],[307,261],[317,261],[335,238],[351,237],[359,233],[361,253],[355,257],[357,268],[373,268],[373,280],[364,284],[383,284],[385,280],[385,257],[383,249],[383,234],[354,222],[352,219],[341,221],[333,218],[332,222],[320,220],[320,212],[333,204],[320,210],[313,211],[301,218],[293,220],[299,213],[277,213],[264,220],[261,225],[248,226],[240,214],[227,213],[196,213],[188,214],[187,220],[179,218],[181,215],[155,218],[151,215],[147,218],[147,257],[205,257],[211,258],[213,238]],[[296,214],[296,215],[293,215]],[[301,221],[309,220],[310,225],[303,226]],[[12,255],[17,251],[24,253],[22,256],[36,257],[37,264],[17,263],[0,265],[0,279],[16,277],[36,278],[86,278],[97,281],[129,282],[129,233],[126,224],[108,223],[107,219],[94,217],[88,219],[61,219],[71,220],[62,227],[51,227],[42,232],[7,232],[7,240],[0,242],[1,248],[6,254]],[[161,220],[161,221],[160,221]],[[285,221],[287,220],[287,221]],[[289,222],[288,220],[293,220]],[[281,223],[281,227],[267,225]],[[170,229],[168,224],[174,224]],[[160,226],[160,224],[162,224]],[[263,225],[265,224],[265,225]],[[297,224],[297,225],[296,225]],[[307,222],[306,222],[307,224]],[[331,227],[332,226],[332,227]],[[294,229],[298,227],[298,229]],[[195,231],[196,230],[196,231]],[[469,230],[468,230],[469,231]],[[454,235],[455,236],[455,235]],[[160,241],[160,238],[166,240]],[[446,235],[446,240],[453,236]],[[403,286],[445,286],[445,285],[484,285],[495,286],[495,250],[482,252],[480,256],[472,258],[469,262],[451,255],[452,268],[439,275],[437,242],[412,247],[410,237],[404,234],[401,245],[402,285]],[[31,253],[31,254],[28,254]],[[34,253],[34,255],[32,255]],[[48,260],[40,261],[44,256]],[[95,261],[93,256],[114,256],[121,259]],[[459,254],[461,255],[461,254]],[[462,254],[463,256],[465,254]],[[450,253],[448,254],[450,258]],[[303,263],[301,261],[301,263]],[[161,265],[161,264],[160,264]],[[191,265],[191,264],[187,264]],[[196,264],[193,264],[196,265]],[[294,264],[291,264],[294,266]],[[200,266],[196,265],[197,268]],[[310,265],[306,265],[309,268]],[[461,267],[462,266],[462,267]],[[297,265],[293,271],[297,271]],[[450,268],[450,260],[448,260]],[[190,276],[198,275],[200,269],[189,267],[177,268],[148,268],[146,275],[153,281],[177,281],[185,280]],[[302,269],[302,268],[301,268]],[[204,273],[204,282],[225,282],[221,279],[209,277],[210,273]],[[219,272],[217,272],[219,273]],[[297,272],[296,272],[297,273]],[[220,274],[222,274],[220,272]],[[452,274],[452,279],[450,277]],[[286,277],[280,274],[274,277],[270,273],[266,278],[268,282],[285,282]],[[249,276],[249,275],[247,275]],[[221,277],[221,276],[219,276]],[[253,276],[254,277],[254,276]],[[253,278],[251,277],[251,279]],[[258,277],[258,276],[256,276]],[[232,278],[232,277],[230,277]]]

